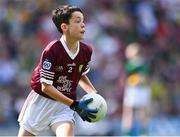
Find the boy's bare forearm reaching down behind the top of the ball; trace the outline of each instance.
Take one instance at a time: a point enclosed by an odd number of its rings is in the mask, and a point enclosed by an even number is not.
[[[79,85],[81,88],[87,93],[96,93],[95,87],[92,85],[91,81],[86,75],[82,75],[79,81]]]

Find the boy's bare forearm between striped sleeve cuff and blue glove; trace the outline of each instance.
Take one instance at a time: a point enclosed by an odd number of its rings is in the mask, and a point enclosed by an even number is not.
[[[44,82],[42,83],[42,91],[56,101],[64,103],[68,106],[70,106],[74,102],[72,99],[59,92],[54,86],[46,84]]]

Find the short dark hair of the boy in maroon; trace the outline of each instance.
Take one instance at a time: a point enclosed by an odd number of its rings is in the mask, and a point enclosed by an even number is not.
[[[59,32],[62,33],[61,24],[69,24],[69,20],[72,17],[72,13],[79,11],[82,13],[82,10],[76,6],[72,5],[61,5],[52,11],[52,20],[56,25]]]

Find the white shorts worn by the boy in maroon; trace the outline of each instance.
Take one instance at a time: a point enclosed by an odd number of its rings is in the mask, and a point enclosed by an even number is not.
[[[45,98],[34,91],[28,95],[19,114],[19,125],[39,135],[57,122],[75,123],[74,111],[65,104]]]

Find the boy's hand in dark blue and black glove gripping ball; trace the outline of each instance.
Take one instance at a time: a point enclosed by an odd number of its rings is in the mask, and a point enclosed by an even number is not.
[[[70,108],[76,111],[84,121],[91,122],[90,118],[96,118],[93,113],[97,113],[96,109],[89,109],[87,107],[87,105],[92,101],[92,98],[82,101],[74,101]]]

